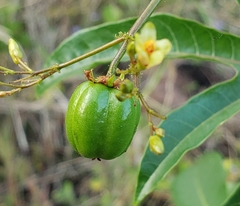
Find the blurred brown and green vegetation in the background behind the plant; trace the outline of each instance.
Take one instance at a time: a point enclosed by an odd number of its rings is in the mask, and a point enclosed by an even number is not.
[[[20,42],[29,65],[37,70],[57,45],[75,31],[137,16],[147,3],[0,0],[0,64],[15,67],[7,53],[9,36]],[[168,0],[158,10],[240,34],[239,7],[234,1]],[[99,67],[99,73],[105,67]],[[191,96],[234,75],[233,70],[223,69],[222,65],[192,60],[166,61],[160,71],[145,72],[142,89],[149,104],[166,114]],[[6,81],[11,77],[0,78]],[[79,157],[66,142],[64,114],[69,96],[81,81],[78,77],[68,79],[40,99],[35,97],[35,88],[0,99],[1,206],[132,204],[149,135],[146,116],[143,113],[133,143],[121,157],[102,162]],[[239,122],[240,116],[236,115],[202,146],[187,153],[142,205],[174,205],[171,185],[179,184],[176,179],[207,151],[218,151],[223,156],[229,186],[238,181]]]

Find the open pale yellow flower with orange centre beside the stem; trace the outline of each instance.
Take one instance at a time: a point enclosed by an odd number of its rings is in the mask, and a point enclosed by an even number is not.
[[[152,22],[147,22],[140,33],[135,34],[135,49],[139,70],[159,65],[172,47],[168,39],[157,40],[157,31]]]

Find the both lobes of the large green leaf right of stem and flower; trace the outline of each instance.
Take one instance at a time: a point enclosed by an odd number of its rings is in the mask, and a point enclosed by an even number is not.
[[[173,43],[170,57],[224,62],[237,74],[194,96],[161,124],[166,131],[165,153],[156,156],[147,148],[138,176],[136,204],[154,190],[187,151],[202,144],[220,124],[240,111],[240,38],[168,15],[155,16],[152,21],[159,37]]]

